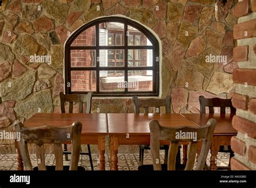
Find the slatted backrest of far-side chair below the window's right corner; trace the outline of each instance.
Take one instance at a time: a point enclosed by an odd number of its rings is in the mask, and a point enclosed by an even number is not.
[[[134,113],[139,114],[139,108],[144,108],[144,113],[149,113],[149,107],[156,107],[156,113],[160,113],[160,107],[165,107],[165,113],[171,113],[171,96],[166,96],[165,99],[138,99],[137,96],[132,97],[134,105]],[[158,112],[157,112],[158,111]]]

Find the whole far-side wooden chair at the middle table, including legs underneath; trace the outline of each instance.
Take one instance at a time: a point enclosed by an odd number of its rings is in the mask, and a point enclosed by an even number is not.
[[[134,113],[139,114],[139,108],[144,108],[144,114],[149,113],[149,107],[156,107],[158,109],[158,112],[156,110],[156,113],[160,113],[160,107],[165,107],[165,113],[170,114],[171,113],[171,96],[166,96],[165,99],[138,99],[137,96],[132,97],[133,105],[134,105]],[[150,145],[139,145],[139,165],[143,165],[143,159],[144,159],[144,150],[150,150]],[[161,150],[165,150],[165,160],[164,163],[167,163],[167,155],[168,155],[168,149],[169,145],[161,145]],[[180,154],[180,152],[179,152]],[[180,163],[180,155],[178,155]]]

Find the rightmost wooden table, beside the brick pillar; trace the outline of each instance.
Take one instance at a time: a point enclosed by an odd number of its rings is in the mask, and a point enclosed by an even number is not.
[[[235,114],[182,114],[193,123],[203,126],[211,118],[217,120],[211,144],[210,170],[217,170],[217,155],[220,145],[230,145],[231,137],[237,135],[237,130],[232,127]],[[200,145],[197,150],[200,154]]]

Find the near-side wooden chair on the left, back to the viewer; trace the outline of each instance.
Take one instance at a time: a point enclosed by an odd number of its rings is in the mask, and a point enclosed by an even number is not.
[[[21,151],[22,160],[26,170],[33,170],[30,161],[27,143],[36,144],[37,168],[34,170],[85,170],[82,166],[78,166],[80,155],[80,135],[82,131],[82,123],[76,121],[72,126],[68,127],[24,127],[21,122],[14,123],[17,133],[21,133],[19,141],[19,150]],[[63,150],[62,142],[71,141],[71,161],[70,166],[63,166]],[[44,158],[44,144],[54,145],[54,154],[56,159],[55,166],[46,166]],[[52,168],[53,167],[53,168]]]

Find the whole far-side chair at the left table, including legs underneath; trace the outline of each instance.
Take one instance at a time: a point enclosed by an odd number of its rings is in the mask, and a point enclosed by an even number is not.
[[[83,113],[83,103],[86,102],[86,114],[91,113],[91,101],[92,101],[92,93],[89,92],[85,94],[71,94],[65,95],[63,92],[59,93],[60,98],[60,109],[62,113],[65,113],[65,102],[69,102],[69,113],[73,113],[73,102],[79,103],[78,113]],[[92,156],[91,156],[91,148],[90,145],[87,144],[88,152],[81,152],[80,155],[89,155],[91,169],[93,170]],[[68,161],[68,154],[71,154],[68,151],[68,145],[64,144],[65,160]]]

